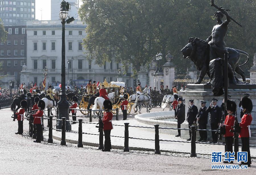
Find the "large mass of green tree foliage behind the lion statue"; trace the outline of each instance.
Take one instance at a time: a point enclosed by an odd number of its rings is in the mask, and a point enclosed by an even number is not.
[[[224,39],[226,46],[253,57],[255,1],[218,0],[215,3],[235,10],[229,12],[230,16],[243,25],[229,24]],[[213,16],[216,10],[210,7],[210,0],[83,0],[79,10],[87,24],[83,44],[88,59],[95,59],[99,65],[115,57],[124,66],[133,63],[136,70],[150,63],[157,53],[165,56],[170,50],[177,73],[183,73],[190,64],[182,58],[180,50],[189,37],[208,38],[216,25]],[[245,60],[242,56],[241,62]],[[252,59],[243,69],[251,65]]]

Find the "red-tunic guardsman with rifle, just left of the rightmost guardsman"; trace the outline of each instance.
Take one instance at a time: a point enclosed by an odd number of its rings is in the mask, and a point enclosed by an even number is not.
[[[226,116],[225,122],[220,123],[220,127],[225,127],[225,133],[221,133],[224,134],[225,137],[225,150],[226,151],[230,151],[233,152],[233,140],[234,140],[234,132],[230,132],[230,130],[234,130],[233,126],[234,126],[234,121],[235,121],[235,113],[236,113],[236,103],[234,101],[231,100],[227,100],[226,101],[226,110],[228,111],[228,115]],[[229,163],[228,161],[223,161],[223,163]],[[230,163],[233,163],[233,161],[231,161]]]

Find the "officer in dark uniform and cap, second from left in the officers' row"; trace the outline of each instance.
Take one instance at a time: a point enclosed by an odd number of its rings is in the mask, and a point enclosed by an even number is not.
[[[189,123],[189,128],[197,122],[197,113],[198,108],[194,105],[194,100],[189,100],[189,108],[187,110],[187,122]],[[187,141],[191,140],[191,131],[189,130],[189,139]]]

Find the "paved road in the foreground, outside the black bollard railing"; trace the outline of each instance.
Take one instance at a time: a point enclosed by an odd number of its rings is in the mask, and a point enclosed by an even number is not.
[[[181,153],[121,150],[102,152],[93,147],[77,148],[34,143],[26,135],[15,135],[17,121],[12,121],[9,108],[0,110],[0,174],[227,174],[255,172],[256,162],[248,170],[210,169],[208,156],[188,157]],[[24,121],[24,134],[28,121]]]

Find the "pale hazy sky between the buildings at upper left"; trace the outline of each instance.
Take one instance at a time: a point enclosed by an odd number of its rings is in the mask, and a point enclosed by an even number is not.
[[[80,4],[82,4],[81,0],[79,0],[79,6]],[[56,10],[60,10],[60,8]],[[41,12],[42,12],[42,20],[51,20],[51,0],[36,0],[36,19],[37,20],[41,20]]]

